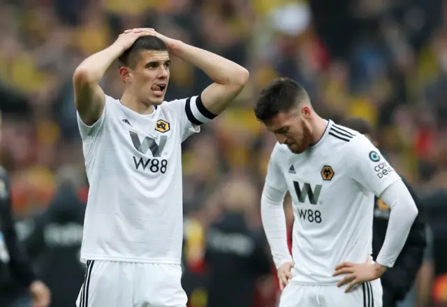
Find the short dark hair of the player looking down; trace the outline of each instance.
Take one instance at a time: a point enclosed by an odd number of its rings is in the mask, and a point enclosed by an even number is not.
[[[303,102],[310,103],[309,94],[304,87],[290,78],[277,78],[261,91],[254,114],[258,120],[266,122],[278,113],[288,112]]]

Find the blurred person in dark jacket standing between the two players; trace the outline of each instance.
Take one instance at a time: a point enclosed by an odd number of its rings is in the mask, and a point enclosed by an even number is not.
[[[248,181],[230,180],[221,190],[221,220],[207,231],[207,307],[253,306],[256,281],[270,276],[272,263],[263,230],[251,229],[247,217],[258,203]]]

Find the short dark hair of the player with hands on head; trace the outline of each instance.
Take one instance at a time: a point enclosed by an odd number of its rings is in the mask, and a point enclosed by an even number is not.
[[[141,36],[118,58],[119,66],[135,67],[142,50],[168,51],[168,47],[156,36]]]

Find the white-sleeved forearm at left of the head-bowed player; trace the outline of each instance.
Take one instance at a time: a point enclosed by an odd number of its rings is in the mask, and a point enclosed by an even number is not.
[[[265,189],[261,197],[261,218],[277,269],[286,262],[293,262],[288,251],[286,215],[282,206],[283,198],[284,195],[281,197],[279,193],[275,197],[267,195]]]

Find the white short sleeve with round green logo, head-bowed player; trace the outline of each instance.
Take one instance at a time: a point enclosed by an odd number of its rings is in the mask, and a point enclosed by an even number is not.
[[[386,161],[381,152],[365,136],[359,135],[350,142],[346,159],[350,165],[351,176],[365,189],[380,197],[400,176]]]

